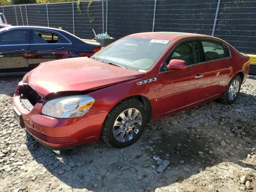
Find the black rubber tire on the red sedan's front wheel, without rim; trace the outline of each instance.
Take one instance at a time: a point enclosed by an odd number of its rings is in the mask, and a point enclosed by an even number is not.
[[[135,108],[140,111],[142,116],[141,127],[138,133],[131,140],[127,142],[119,142],[114,138],[114,134],[113,134],[114,122],[116,121],[116,118],[118,118],[120,113],[122,113],[124,110],[129,108]],[[146,114],[145,106],[140,101],[134,98],[122,100],[116,106],[114,106],[114,108],[112,108],[112,110],[108,113],[105,119],[105,122],[102,126],[101,138],[109,146],[112,146],[115,148],[127,147],[133,144],[134,142],[136,142],[138,138],[140,138],[141,134],[143,133],[146,127],[146,122],[147,122],[146,118],[147,118],[147,114]]]

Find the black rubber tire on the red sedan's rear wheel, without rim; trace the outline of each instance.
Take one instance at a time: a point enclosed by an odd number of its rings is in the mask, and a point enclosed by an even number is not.
[[[229,89],[230,89],[230,86],[232,85],[232,83],[235,81],[235,80],[238,80],[239,81],[239,89],[238,89],[238,93],[236,94],[235,98],[233,98],[232,100],[230,100],[230,98],[228,97],[228,92],[229,92]],[[238,98],[239,96],[239,93],[240,93],[240,89],[241,89],[241,84],[242,84],[242,80],[241,80],[241,77],[239,75],[235,75],[229,82],[227,88],[226,88],[226,91],[224,92],[224,94],[218,99],[219,102],[221,102],[222,104],[227,104],[227,105],[230,105],[232,103],[234,103],[236,101],[236,99]]]

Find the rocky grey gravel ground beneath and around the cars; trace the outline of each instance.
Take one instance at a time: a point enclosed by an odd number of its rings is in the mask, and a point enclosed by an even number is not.
[[[214,101],[151,122],[132,146],[100,141],[64,154],[42,147],[16,123],[12,95],[20,80],[0,79],[0,192],[256,189],[256,77],[231,106]],[[156,173],[166,159],[170,165]]]

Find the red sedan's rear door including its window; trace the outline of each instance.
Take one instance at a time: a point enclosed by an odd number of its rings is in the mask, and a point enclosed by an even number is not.
[[[205,97],[222,94],[232,72],[232,58],[227,45],[217,40],[199,40],[202,50]]]

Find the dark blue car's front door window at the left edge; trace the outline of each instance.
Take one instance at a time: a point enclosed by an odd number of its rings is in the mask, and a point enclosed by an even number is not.
[[[0,45],[27,44],[28,30],[8,30],[0,34]]]

